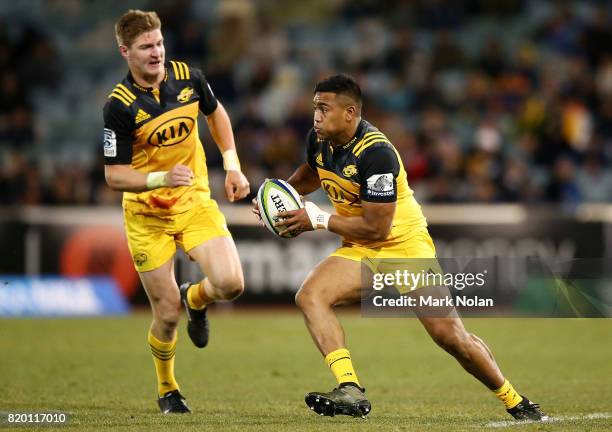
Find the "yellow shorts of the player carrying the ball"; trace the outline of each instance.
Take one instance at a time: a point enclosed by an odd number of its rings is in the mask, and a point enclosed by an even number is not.
[[[367,267],[362,267],[362,269],[366,271],[369,269],[372,274],[395,274],[398,271],[402,273],[422,273],[423,275],[428,273],[441,275],[443,273],[436,258],[436,248],[427,228],[421,228],[405,242],[396,243],[389,247],[372,249],[365,246],[343,246],[330,256],[361,262]],[[370,275],[362,273],[362,277],[369,278]],[[423,278],[423,276],[421,277]],[[440,277],[438,279],[441,281]],[[430,284],[435,285],[438,279],[431,276],[428,280],[419,279],[422,282],[414,286],[395,285],[395,287],[400,293],[404,294]],[[363,279],[363,282],[364,286],[370,285],[369,282],[366,283],[366,279]]]

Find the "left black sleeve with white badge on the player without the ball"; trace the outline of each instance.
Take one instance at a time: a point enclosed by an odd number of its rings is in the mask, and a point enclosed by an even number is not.
[[[104,105],[104,163],[127,165],[132,163],[132,132],[134,122],[121,102],[109,100]]]

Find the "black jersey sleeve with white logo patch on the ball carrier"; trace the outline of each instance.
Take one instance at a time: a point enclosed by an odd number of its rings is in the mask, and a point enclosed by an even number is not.
[[[363,152],[358,164],[359,197],[368,202],[397,201],[397,176],[400,164],[389,147],[371,147]]]

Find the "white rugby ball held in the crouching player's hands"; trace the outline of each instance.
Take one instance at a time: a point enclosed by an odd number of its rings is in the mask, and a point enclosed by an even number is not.
[[[284,229],[284,227],[274,227],[278,221],[276,215],[279,212],[304,207],[297,191],[289,183],[280,179],[266,179],[263,182],[257,191],[257,205],[266,228],[276,235]]]

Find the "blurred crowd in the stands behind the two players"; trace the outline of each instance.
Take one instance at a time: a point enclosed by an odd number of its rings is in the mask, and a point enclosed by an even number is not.
[[[74,1],[51,3],[89,13]],[[364,117],[397,147],[423,203],[612,201],[608,2],[180,0],[138,7],[160,14],[168,59],[204,70],[230,112],[253,189],[266,177],[288,177],[304,160],[314,84],[347,72],[362,86]],[[113,52],[116,17],[107,17],[106,33],[96,28],[99,37],[85,39],[104,52],[91,63],[106,74],[98,82],[108,82],[83,120],[88,139],[76,145],[93,155],[85,160],[55,157],[48,149],[57,134],[38,126],[48,113],[36,95],[71,94],[57,90],[72,85],[63,76],[70,43],[42,22],[3,32],[0,17],[0,203],[119,199],[104,184],[100,157],[104,96],[125,74]],[[116,66],[104,69],[100,59],[109,56]],[[202,129],[213,191],[221,191],[219,152]]]

